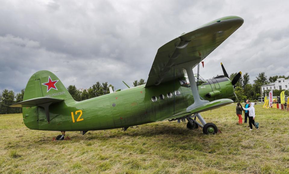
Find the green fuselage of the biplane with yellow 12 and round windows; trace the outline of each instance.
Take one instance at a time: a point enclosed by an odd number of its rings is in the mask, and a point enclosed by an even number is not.
[[[26,107],[23,108],[24,124],[36,130],[79,131],[163,121],[193,104],[192,91],[184,86],[176,80],[152,87],[141,85],[81,102],[64,100],[50,105],[49,123],[43,108]],[[233,90],[231,81],[223,77],[208,80],[198,91],[203,99],[213,101],[231,98]]]

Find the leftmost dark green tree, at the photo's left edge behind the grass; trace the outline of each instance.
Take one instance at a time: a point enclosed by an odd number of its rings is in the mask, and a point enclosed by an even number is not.
[[[10,108],[9,106],[14,104],[14,92],[13,90],[3,90],[2,91],[2,114],[11,114],[14,112],[14,108]]]

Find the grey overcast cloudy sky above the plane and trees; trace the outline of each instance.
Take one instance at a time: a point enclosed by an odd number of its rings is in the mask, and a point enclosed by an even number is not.
[[[243,26],[206,57],[201,76],[222,75],[220,62],[251,82],[259,72],[289,75],[289,1],[2,0],[0,91],[19,92],[39,70],[66,87],[108,81],[124,89],[121,81],[147,79],[163,44],[230,15]]]

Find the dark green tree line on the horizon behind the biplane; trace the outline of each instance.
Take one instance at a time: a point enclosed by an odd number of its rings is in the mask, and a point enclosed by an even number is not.
[[[229,78],[232,81],[233,78],[237,75],[237,72],[232,73]],[[250,84],[250,75],[248,72],[243,74],[238,82],[236,83],[235,93],[239,100],[243,101],[245,99],[250,99],[252,101],[258,100],[258,97],[261,96],[260,87],[265,84],[273,83],[277,80],[277,78],[285,78],[288,79],[289,76],[284,75],[275,75],[267,78],[265,72],[261,72],[258,74],[256,79],[253,81],[253,84]],[[140,79],[139,81],[135,80],[133,82],[133,86],[139,86],[142,84],[146,84],[144,79]],[[111,84],[108,85],[108,82],[100,83],[99,81],[96,84],[93,84],[92,87],[87,90],[80,91],[77,89],[75,85],[69,85],[67,90],[71,94],[74,100],[82,101],[86,99],[91,99],[97,96],[102,96],[109,93],[109,87],[112,87],[114,90],[114,86]],[[263,96],[265,93],[269,93],[270,90],[265,90],[263,92]],[[273,96],[279,96],[282,90],[275,89],[273,90]],[[11,113],[21,113],[22,108],[11,108],[10,105],[23,101],[24,89],[21,90],[20,93],[15,95],[13,90],[5,89],[0,93],[0,114],[11,114]],[[289,96],[288,90],[285,91],[285,95]],[[232,98],[234,101],[237,101],[236,97]]]

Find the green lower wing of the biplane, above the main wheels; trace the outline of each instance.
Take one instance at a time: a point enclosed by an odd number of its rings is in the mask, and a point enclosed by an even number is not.
[[[195,113],[200,113],[200,112],[204,112],[204,111],[209,111],[209,110],[212,110],[212,109],[216,109],[216,108],[220,108],[221,106],[225,106],[225,105],[228,105],[228,104],[231,104],[233,103],[234,101],[231,100],[231,99],[218,99],[218,100],[214,100],[212,102],[208,102],[204,105],[200,105],[196,108],[192,108],[190,110],[184,110],[184,111],[181,111],[177,114],[174,114],[173,116],[165,119],[165,120],[169,120],[169,119],[174,119],[174,118],[180,118],[180,117],[184,117],[186,115],[190,115],[190,114],[195,114]],[[164,120],[162,120],[164,121]]]

